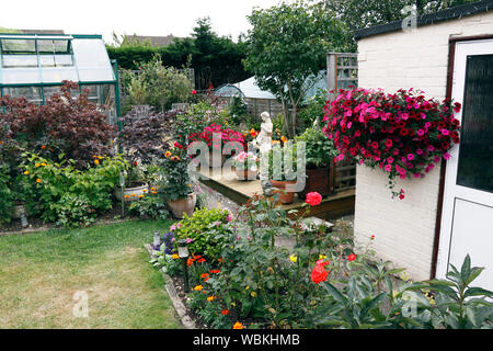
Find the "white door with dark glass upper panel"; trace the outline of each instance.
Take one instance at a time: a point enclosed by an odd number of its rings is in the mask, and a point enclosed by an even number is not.
[[[447,161],[437,278],[469,253],[485,268],[472,285],[493,290],[493,39],[456,44],[452,99],[462,129]]]

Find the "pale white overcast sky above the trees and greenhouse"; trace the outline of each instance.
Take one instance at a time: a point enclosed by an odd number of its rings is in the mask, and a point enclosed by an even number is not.
[[[190,36],[197,19],[210,16],[213,30],[237,39],[249,29],[254,7],[278,0],[2,0],[0,26],[22,30],[64,30],[67,34]]]

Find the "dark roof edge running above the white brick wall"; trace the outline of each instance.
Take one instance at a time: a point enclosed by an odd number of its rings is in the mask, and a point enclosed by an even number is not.
[[[474,3],[462,4],[454,7],[447,10],[438,11],[432,14],[424,14],[417,16],[417,26],[434,24],[444,21],[450,21],[455,19],[461,19],[467,15],[478,14],[493,10],[493,0],[478,1]],[[397,32],[402,30],[402,21],[394,21],[387,24],[380,24],[363,30],[355,31],[355,38],[360,39],[364,37],[385,34],[390,32]]]

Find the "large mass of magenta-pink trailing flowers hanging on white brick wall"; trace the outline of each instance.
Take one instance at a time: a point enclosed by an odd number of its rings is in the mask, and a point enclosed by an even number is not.
[[[381,90],[340,90],[325,105],[325,135],[345,158],[389,176],[393,196],[404,199],[404,191],[393,191],[395,179],[423,178],[448,150],[459,144],[460,123],[454,112],[460,103],[425,99],[422,91],[410,89],[397,93]]]

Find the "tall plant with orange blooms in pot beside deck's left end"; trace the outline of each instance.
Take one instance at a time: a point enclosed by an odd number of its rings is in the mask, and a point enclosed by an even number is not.
[[[197,196],[188,176],[188,162],[185,148],[173,147],[164,154],[161,161],[164,176],[160,192],[164,194],[171,212],[176,218],[184,214],[192,216]]]

